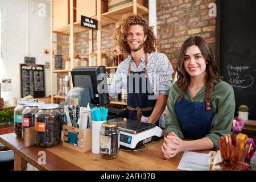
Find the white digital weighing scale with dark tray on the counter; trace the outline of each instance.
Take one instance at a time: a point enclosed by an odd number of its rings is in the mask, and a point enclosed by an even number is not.
[[[151,123],[126,118],[114,118],[109,121],[118,122],[120,148],[123,149],[136,150],[151,140],[163,137],[163,130]]]

